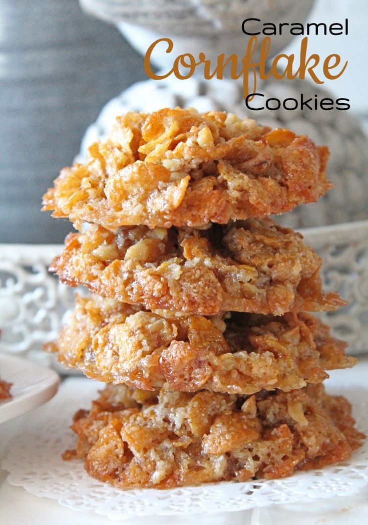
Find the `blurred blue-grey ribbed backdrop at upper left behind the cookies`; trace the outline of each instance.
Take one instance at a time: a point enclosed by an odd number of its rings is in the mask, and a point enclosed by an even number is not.
[[[0,0],[0,243],[61,243],[41,195],[109,99],[145,79],[142,58],[77,0]]]

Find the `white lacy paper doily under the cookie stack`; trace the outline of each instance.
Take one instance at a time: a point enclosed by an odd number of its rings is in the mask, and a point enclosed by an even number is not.
[[[3,468],[10,472],[10,484],[22,486],[36,496],[57,499],[60,505],[71,509],[94,511],[112,520],[153,514],[239,511],[275,503],[349,496],[368,484],[368,446],[365,443],[350,461],[298,472],[280,480],[223,482],[171,490],[112,488],[90,478],[82,461],[63,461],[60,457],[62,451],[75,445],[68,429],[73,412],[79,407],[89,407],[100,385],[85,378],[69,378],[58,395],[29,419],[22,427],[22,434],[12,439],[3,463]],[[342,389],[329,388],[329,392],[349,397],[358,428],[368,433],[368,421],[365,420],[368,390],[356,385],[346,388],[345,385]]]

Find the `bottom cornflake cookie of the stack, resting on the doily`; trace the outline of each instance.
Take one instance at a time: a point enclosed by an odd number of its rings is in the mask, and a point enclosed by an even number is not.
[[[344,461],[361,445],[344,397],[322,385],[244,397],[109,385],[72,425],[88,474],[115,487],[166,489],[282,478]]]

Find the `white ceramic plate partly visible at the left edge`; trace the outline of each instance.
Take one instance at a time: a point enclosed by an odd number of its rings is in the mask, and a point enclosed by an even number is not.
[[[1,353],[0,379],[13,383],[12,399],[0,402],[0,423],[43,405],[56,394],[60,383],[53,370]]]

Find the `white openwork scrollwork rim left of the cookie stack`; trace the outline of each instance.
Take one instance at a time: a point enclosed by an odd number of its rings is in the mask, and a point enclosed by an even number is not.
[[[0,350],[55,364],[41,346],[56,338],[73,305],[74,291],[47,267],[61,246],[2,245],[0,248]]]

